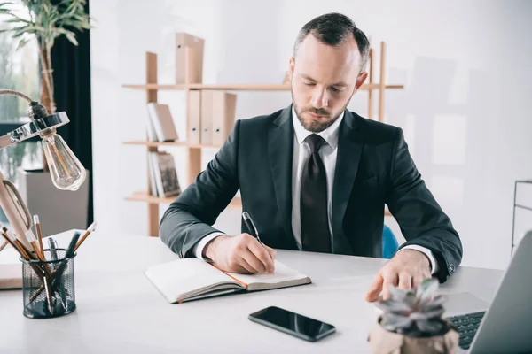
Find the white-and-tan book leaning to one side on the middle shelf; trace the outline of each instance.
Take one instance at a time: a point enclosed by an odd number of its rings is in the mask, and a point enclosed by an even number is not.
[[[168,104],[148,104],[147,131],[150,142],[173,142],[178,139]]]

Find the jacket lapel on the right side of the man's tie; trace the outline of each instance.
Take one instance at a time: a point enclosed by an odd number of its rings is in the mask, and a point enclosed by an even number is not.
[[[346,110],[340,125],[332,187],[332,253],[353,254],[348,238],[343,232],[342,221],[351,196],[351,189],[355,183],[363,147],[363,138],[356,130],[355,118],[351,112]]]

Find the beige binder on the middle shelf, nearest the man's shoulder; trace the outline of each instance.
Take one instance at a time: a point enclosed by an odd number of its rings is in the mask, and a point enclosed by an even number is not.
[[[235,124],[237,95],[216,91],[213,95],[213,145],[223,145]]]

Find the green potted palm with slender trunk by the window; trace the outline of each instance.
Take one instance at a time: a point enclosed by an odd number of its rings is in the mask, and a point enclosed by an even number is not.
[[[24,19],[13,10],[17,4],[23,4],[29,13],[29,19]],[[41,104],[48,112],[55,113],[53,97],[53,69],[51,67],[51,49],[60,35],[65,35],[69,42],[78,45],[74,30],[82,31],[90,28],[90,18],[85,13],[86,0],[20,0],[0,3],[0,14],[9,19],[4,22],[9,28],[0,29],[1,32],[11,32],[12,38],[19,41],[17,49],[23,47],[29,40],[28,35],[35,35],[39,47],[41,62]]]

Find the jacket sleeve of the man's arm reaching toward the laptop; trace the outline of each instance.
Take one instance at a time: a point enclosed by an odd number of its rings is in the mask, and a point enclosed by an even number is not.
[[[388,181],[386,203],[407,241],[401,248],[415,244],[431,250],[439,268],[435,275],[446,281],[462,260],[462,242],[421,179],[401,128],[395,136]]]

